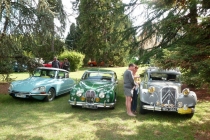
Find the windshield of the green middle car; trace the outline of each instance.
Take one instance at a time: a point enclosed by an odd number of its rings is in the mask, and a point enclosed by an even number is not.
[[[112,73],[103,72],[87,72],[85,73],[83,79],[88,80],[112,80]]]

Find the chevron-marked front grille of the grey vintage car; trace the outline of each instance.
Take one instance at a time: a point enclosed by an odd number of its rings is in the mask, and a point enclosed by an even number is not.
[[[176,105],[176,89],[166,87],[162,89],[162,104]]]

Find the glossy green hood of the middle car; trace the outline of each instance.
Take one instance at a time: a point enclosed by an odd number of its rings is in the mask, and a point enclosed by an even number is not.
[[[80,81],[79,84],[76,86],[77,88],[81,89],[107,89],[112,87],[112,82],[111,81],[93,81],[93,80],[84,80]]]

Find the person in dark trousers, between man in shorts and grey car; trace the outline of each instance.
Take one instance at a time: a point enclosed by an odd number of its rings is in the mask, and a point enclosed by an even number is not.
[[[133,70],[133,77],[134,77],[134,83],[135,86],[133,87],[133,96],[131,101],[131,111],[133,113],[137,113],[137,101],[138,101],[138,89],[140,84],[140,77],[137,75],[138,66],[135,66],[135,69]]]

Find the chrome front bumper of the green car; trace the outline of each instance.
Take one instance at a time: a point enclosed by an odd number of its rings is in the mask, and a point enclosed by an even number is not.
[[[68,101],[70,105],[75,106],[82,106],[82,108],[91,108],[91,109],[97,109],[99,107],[102,108],[112,108],[114,107],[115,103],[87,103],[87,102],[77,102],[77,101]]]

